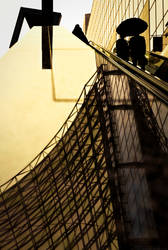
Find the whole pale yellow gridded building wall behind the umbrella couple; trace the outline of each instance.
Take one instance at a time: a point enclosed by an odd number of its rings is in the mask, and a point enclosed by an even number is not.
[[[115,47],[117,26],[125,19],[140,17],[149,27],[143,34],[147,50],[153,49],[153,36],[163,35],[168,21],[167,0],[93,0],[87,30],[89,40],[112,50]],[[114,39],[115,37],[115,39]],[[164,37],[164,48],[168,38]]]

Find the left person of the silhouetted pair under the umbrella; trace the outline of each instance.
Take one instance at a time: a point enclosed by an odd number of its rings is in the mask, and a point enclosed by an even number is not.
[[[117,56],[128,61],[129,59],[129,46],[128,42],[124,39],[124,36],[120,35],[120,38],[116,41]]]

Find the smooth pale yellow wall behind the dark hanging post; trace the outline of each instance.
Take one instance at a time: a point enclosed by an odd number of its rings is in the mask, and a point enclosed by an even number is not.
[[[60,26],[53,30],[52,71],[41,68],[41,27],[0,59],[0,184],[46,146],[95,71],[94,51]]]

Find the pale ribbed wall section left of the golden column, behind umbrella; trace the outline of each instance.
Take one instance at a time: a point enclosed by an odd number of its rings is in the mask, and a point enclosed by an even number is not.
[[[112,34],[121,21],[138,17],[145,0],[94,0],[87,36],[100,45],[107,47]]]

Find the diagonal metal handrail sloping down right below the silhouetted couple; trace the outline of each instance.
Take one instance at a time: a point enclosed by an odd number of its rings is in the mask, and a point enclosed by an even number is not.
[[[90,46],[105,57],[110,63],[120,69],[129,77],[133,78],[143,87],[148,89],[152,94],[157,96],[161,101],[168,105],[168,83],[157,79],[153,75],[146,73],[145,71],[133,66],[129,62],[119,58],[114,55],[111,51],[103,48],[102,46],[94,43],[93,41],[89,42]]]

